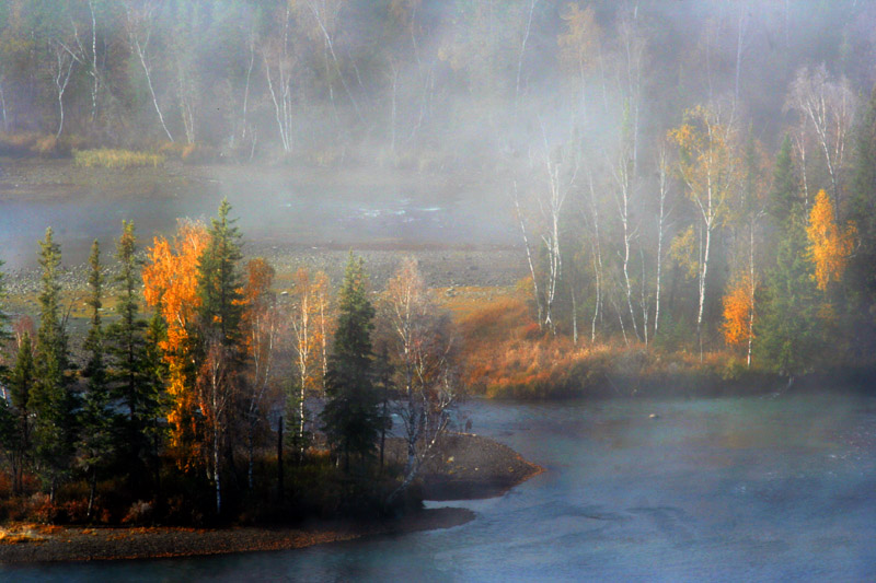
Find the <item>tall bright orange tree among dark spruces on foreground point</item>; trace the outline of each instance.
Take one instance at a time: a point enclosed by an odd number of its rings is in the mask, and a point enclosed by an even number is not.
[[[143,298],[158,310],[166,325],[165,338],[159,343],[168,363],[168,394],[172,399],[168,422],[171,447],[185,465],[198,456],[194,393],[189,371],[192,363],[191,326],[197,317],[200,300],[197,294],[198,258],[209,241],[203,222],[181,220],[173,244],[157,236],[148,249],[143,267]]]

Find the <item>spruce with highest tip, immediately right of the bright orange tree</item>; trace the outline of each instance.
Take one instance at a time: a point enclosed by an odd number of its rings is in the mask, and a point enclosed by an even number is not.
[[[235,221],[229,219],[231,205],[222,199],[219,217],[210,225],[210,242],[198,264],[201,330],[217,335],[224,347],[239,343],[243,314],[241,234]]]

